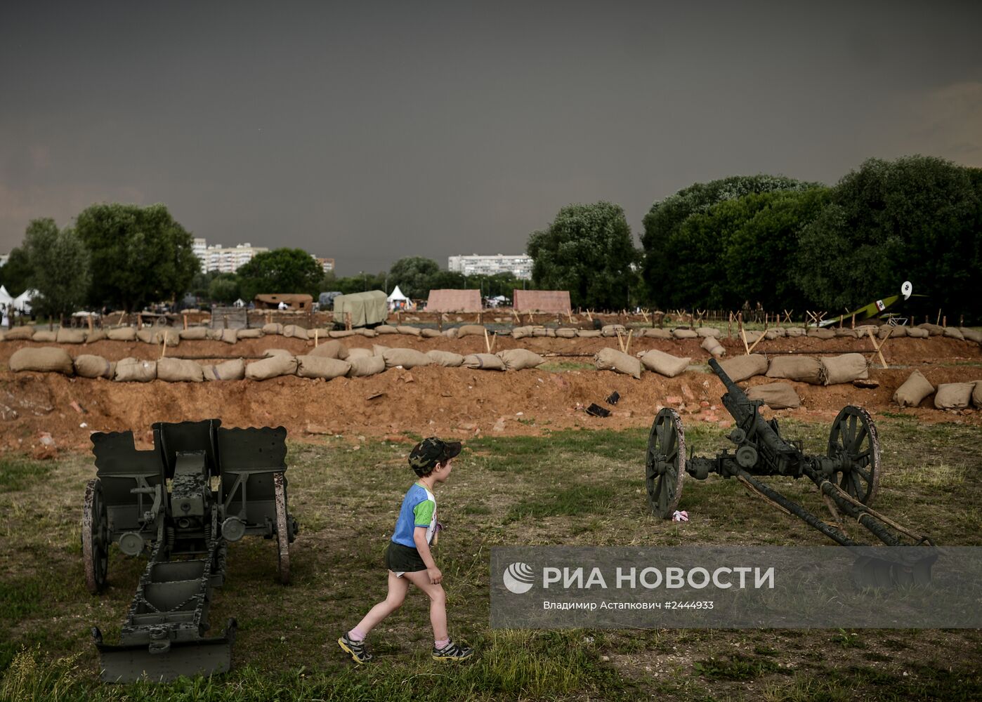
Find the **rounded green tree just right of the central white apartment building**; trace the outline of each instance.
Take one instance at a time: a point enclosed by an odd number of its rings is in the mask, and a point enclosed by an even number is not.
[[[617,309],[629,304],[638,257],[624,209],[610,202],[564,207],[543,232],[528,238],[532,283],[568,290],[573,306]]]

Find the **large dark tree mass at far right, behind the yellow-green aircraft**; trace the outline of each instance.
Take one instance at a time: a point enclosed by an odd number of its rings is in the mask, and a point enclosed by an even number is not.
[[[801,235],[802,290],[840,310],[896,295],[910,280],[931,309],[982,317],[980,182],[971,170],[929,156],[864,162]]]

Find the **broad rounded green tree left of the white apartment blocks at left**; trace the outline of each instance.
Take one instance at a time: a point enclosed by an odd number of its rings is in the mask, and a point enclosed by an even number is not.
[[[95,204],[76,219],[93,276],[89,301],[132,310],[189,290],[200,263],[191,233],[162,204]]]

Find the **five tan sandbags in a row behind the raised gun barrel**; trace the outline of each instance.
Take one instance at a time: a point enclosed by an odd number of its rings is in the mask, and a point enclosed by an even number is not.
[[[639,357],[615,349],[602,349],[597,351],[593,358],[598,370],[613,370],[634,378],[641,377],[642,368],[667,378],[674,378],[683,373],[692,361],[690,357],[679,357],[657,349],[644,351],[639,354]],[[783,378],[812,385],[851,383],[853,380],[869,377],[869,363],[862,353],[844,353],[820,358],[779,355],[770,362],[762,353],[750,353],[722,361],[720,366],[735,383],[755,375],[767,375],[769,378]]]

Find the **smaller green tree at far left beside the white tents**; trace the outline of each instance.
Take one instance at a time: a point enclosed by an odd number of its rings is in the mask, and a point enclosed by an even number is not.
[[[31,308],[59,318],[77,310],[88,293],[91,274],[88,250],[75,232],[59,231],[53,219],[31,220],[24,250],[30,266],[28,284],[38,293]]]

